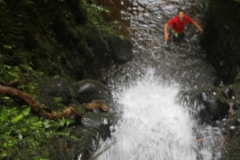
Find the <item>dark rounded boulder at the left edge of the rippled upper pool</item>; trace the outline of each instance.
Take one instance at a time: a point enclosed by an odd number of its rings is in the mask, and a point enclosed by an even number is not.
[[[131,61],[133,57],[132,43],[128,39],[120,39],[117,36],[107,38],[112,59],[118,63]]]

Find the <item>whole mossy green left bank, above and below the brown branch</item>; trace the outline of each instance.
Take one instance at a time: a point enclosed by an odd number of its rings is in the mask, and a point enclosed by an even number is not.
[[[59,160],[79,154],[89,159],[93,139],[97,143],[96,130],[75,127],[76,114],[48,120],[36,112],[59,113],[40,103],[42,79],[61,77],[69,84],[101,80],[101,70],[112,62],[104,39],[116,34],[114,24],[101,18],[108,11],[91,0],[1,0],[0,10],[0,159]],[[38,109],[31,109],[19,94],[27,95]],[[71,91],[69,96],[74,96]],[[67,109],[64,97],[52,98],[56,106]]]

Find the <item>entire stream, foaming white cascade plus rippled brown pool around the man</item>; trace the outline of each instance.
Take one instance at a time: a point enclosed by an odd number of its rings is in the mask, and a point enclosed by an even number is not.
[[[196,106],[184,105],[180,90],[211,84],[214,71],[204,62],[199,33],[187,26],[181,44],[166,43],[164,23],[183,8],[201,24],[202,0],[131,0],[122,4],[134,44],[131,62],[113,66],[109,86],[120,104],[112,137],[102,142],[98,160],[219,159],[221,132],[193,118]],[[191,112],[190,112],[191,108]]]

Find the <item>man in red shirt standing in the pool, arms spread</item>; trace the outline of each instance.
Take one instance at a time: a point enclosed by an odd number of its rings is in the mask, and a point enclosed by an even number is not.
[[[184,36],[184,28],[186,23],[193,24],[200,33],[203,32],[203,29],[199,26],[197,22],[195,22],[192,18],[185,15],[185,12],[183,10],[179,10],[177,16],[170,19],[165,25],[164,25],[164,39],[165,41],[169,40],[168,35],[168,26],[171,26],[171,31],[173,36],[175,38],[180,38]]]

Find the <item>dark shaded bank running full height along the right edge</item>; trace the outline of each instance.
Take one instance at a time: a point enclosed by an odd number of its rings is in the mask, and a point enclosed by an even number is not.
[[[208,51],[207,60],[215,68],[218,79],[214,85],[224,88],[222,96],[232,104],[228,114],[226,150],[222,160],[240,159],[240,1],[210,0],[202,46]],[[224,85],[229,85],[224,87]],[[220,95],[220,94],[219,94]]]

